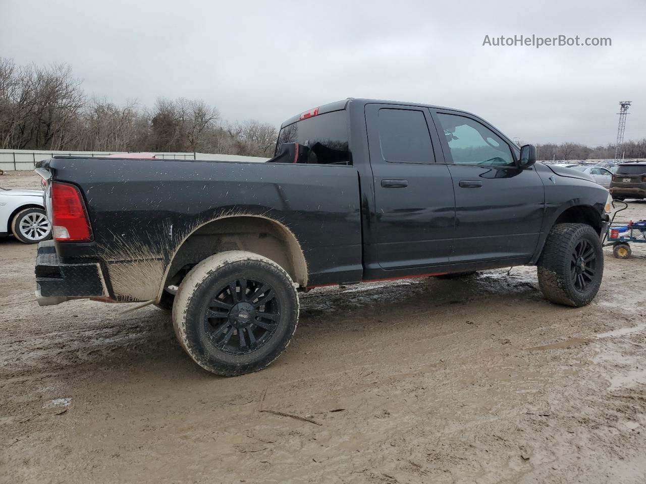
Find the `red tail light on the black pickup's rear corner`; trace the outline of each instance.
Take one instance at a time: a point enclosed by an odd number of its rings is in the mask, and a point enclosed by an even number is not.
[[[52,181],[52,233],[57,241],[92,240],[90,221],[81,192],[74,185]]]

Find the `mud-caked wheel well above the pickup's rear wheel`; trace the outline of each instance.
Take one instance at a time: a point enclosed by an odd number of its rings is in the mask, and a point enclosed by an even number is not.
[[[271,259],[295,283],[307,285],[307,264],[296,236],[278,221],[262,216],[232,216],[197,228],[172,256],[164,287],[176,284],[191,267],[225,250],[248,250]]]

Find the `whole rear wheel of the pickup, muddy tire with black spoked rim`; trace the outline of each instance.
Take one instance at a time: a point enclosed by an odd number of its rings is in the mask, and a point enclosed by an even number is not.
[[[231,281],[234,292],[227,288]],[[222,287],[224,292],[220,292]],[[269,290],[254,297],[264,287]],[[268,297],[269,302],[262,303]],[[251,308],[247,310],[243,303]],[[232,307],[227,312],[223,305]],[[213,314],[217,316],[211,318]],[[220,317],[224,314],[229,316]],[[269,316],[275,324],[268,324]],[[178,341],[200,367],[222,376],[242,375],[262,370],[287,348],[298,325],[298,295],[289,274],[274,261],[243,250],[221,252],[204,259],[183,279],[175,296],[172,323]],[[259,337],[261,332],[264,339]],[[248,352],[243,342],[249,342]],[[231,349],[235,345],[239,351]]]

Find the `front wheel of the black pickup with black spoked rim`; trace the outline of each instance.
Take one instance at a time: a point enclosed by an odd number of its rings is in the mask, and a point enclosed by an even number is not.
[[[582,270],[578,255],[581,247],[586,247],[583,255],[591,250],[589,260],[583,260]],[[554,225],[538,259],[537,272],[539,286],[548,301],[572,307],[589,304],[603,277],[603,250],[594,228],[583,223]],[[579,276],[585,285],[579,282]]]

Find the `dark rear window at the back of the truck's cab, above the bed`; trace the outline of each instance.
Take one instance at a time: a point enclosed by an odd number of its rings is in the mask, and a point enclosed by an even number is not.
[[[300,163],[315,165],[351,165],[348,143],[348,112],[333,111],[308,117],[278,133],[276,152],[283,143],[298,143],[307,146],[307,156]]]

